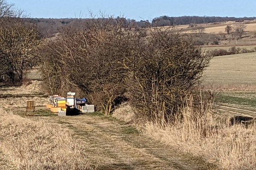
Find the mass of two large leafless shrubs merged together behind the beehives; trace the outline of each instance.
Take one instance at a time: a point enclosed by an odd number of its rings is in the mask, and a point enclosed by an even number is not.
[[[49,92],[76,87],[106,115],[126,97],[137,116],[172,120],[210,58],[184,35],[95,21],[90,28],[65,31],[42,49]]]

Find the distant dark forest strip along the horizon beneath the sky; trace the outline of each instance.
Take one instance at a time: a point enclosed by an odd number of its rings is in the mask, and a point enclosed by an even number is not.
[[[177,26],[186,24],[202,24],[202,23],[218,23],[225,21],[242,22],[244,20],[255,20],[256,17],[198,17],[198,16],[182,16],[182,17],[168,17],[161,16],[156,17],[150,23],[148,20],[132,20],[122,17],[113,18],[113,24],[122,22],[123,27],[130,28],[148,28],[157,26]],[[30,23],[35,23],[38,26],[39,31],[44,37],[51,37],[58,32],[62,32],[65,28],[79,28],[81,26],[89,26],[91,20],[99,19],[45,19],[45,18],[28,18]],[[104,19],[100,19],[104,21]]]

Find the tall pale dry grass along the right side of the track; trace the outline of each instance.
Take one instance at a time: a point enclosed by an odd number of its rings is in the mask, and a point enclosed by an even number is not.
[[[164,129],[147,122],[144,132],[183,152],[201,156],[206,161],[228,170],[256,169],[256,125],[229,127],[227,121],[216,120],[210,111],[183,111],[184,119]]]

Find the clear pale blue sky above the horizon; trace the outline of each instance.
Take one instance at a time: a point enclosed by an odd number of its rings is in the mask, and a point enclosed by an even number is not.
[[[6,0],[24,9],[31,17],[89,17],[88,9],[105,11],[115,17],[152,20],[154,17],[221,16],[254,17],[256,0]],[[76,14],[76,15],[75,15]]]

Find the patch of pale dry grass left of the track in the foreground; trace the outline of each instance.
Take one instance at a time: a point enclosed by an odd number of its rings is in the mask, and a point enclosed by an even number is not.
[[[0,111],[1,170],[87,170],[86,145],[44,120]]]

